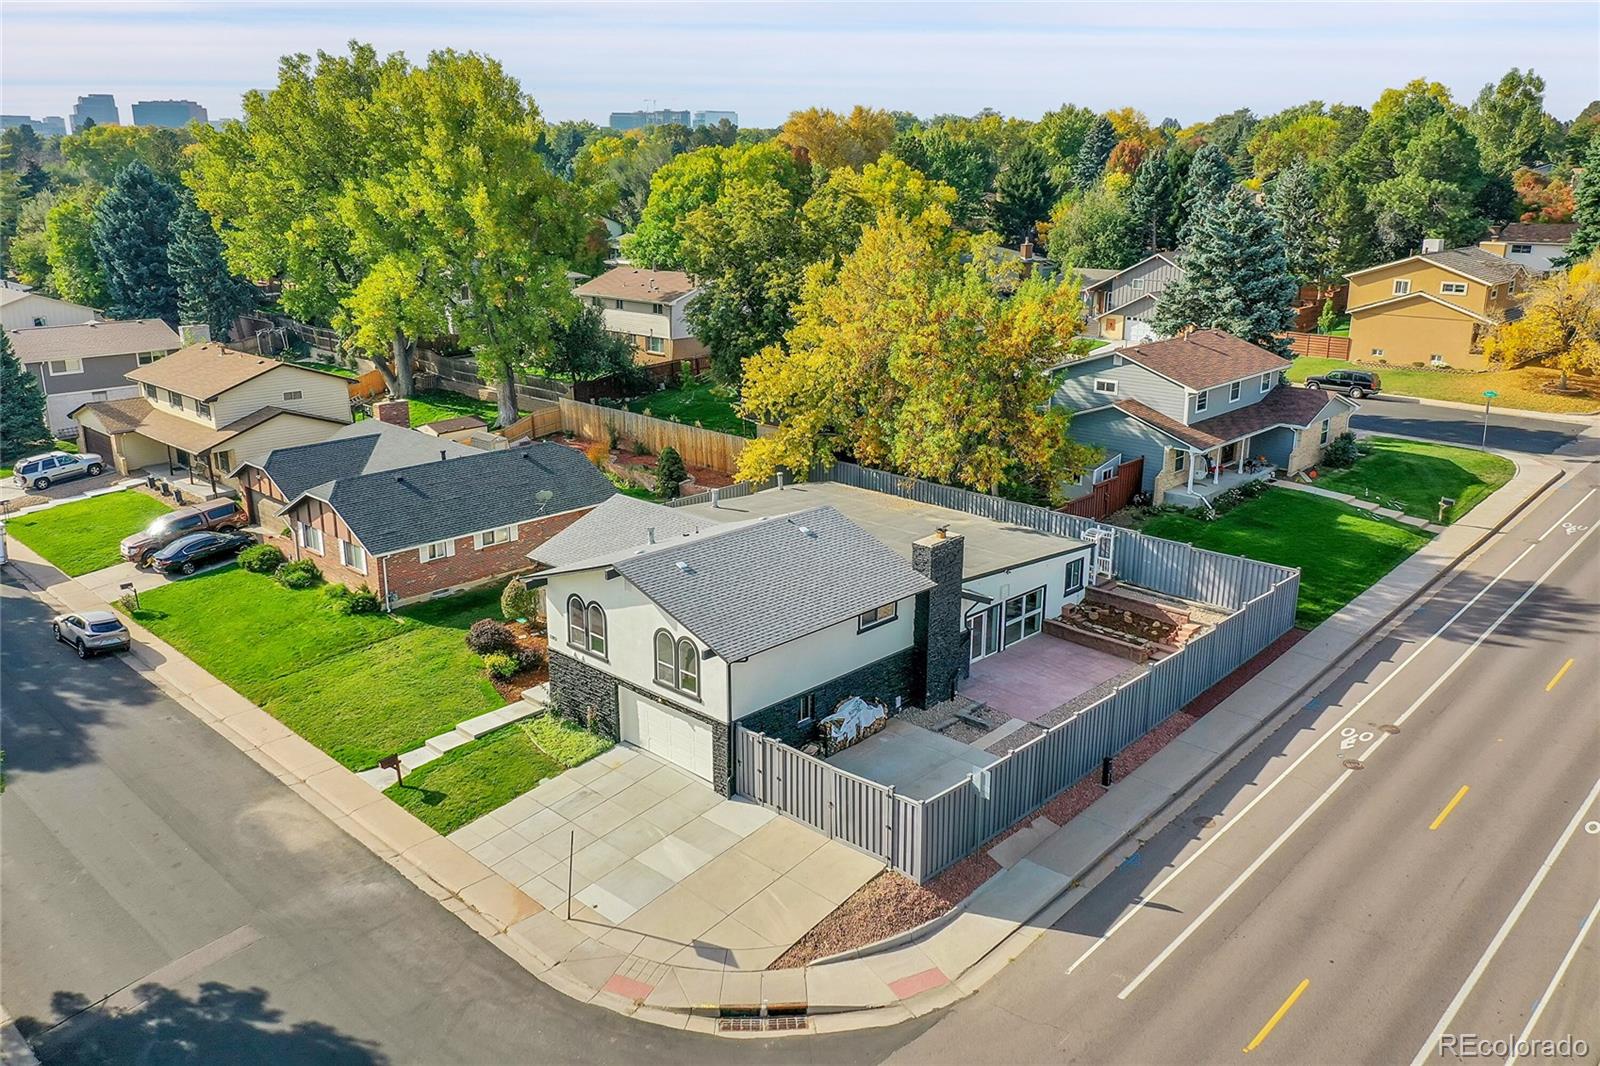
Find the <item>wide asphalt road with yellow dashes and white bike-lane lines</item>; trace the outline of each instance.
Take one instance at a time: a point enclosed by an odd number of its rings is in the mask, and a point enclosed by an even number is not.
[[[1552,491],[893,1061],[1462,1061],[1443,1037],[1525,1028],[1597,1061],[1597,485]]]

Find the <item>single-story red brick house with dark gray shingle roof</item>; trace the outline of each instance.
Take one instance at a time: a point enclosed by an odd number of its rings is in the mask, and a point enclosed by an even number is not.
[[[530,570],[530,547],[616,495],[562,445],[478,451],[378,419],[235,475],[264,539],[389,608]]]

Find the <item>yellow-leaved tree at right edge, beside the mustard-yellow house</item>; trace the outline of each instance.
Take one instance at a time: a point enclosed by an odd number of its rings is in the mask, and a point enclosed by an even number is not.
[[[1600,253],[1536,282],[1514,322],[1494,327],[1483,354],[1504,367],[1600,375]]]

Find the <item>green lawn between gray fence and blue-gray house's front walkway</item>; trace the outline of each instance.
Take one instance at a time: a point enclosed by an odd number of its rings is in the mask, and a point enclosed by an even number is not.
[[[1429,541],[1421,530],[1290,488],[1262,493],[1214,522],[1158,514],[1141,531],[1214,552],[1299,567],[1294,619],[1306,629],[1354,600]]]

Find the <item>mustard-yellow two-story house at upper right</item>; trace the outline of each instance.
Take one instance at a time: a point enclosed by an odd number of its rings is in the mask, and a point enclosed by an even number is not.
[[[1482,338],[1515,317],[1526,271],[1485,248],[1437,248],[1347,274],[1350,359],[1488,370]]]

